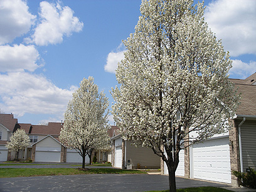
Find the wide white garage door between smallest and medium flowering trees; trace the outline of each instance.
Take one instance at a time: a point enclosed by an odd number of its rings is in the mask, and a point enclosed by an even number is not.
[[[36,162],[60,162],[59,151],[36,151]]]

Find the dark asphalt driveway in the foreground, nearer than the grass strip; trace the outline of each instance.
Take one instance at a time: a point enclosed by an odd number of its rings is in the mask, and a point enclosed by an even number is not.
[[[176,178],[177,188],[228,186],[194,179]],[[84,174],[1,178],[0,191],[152,191],[168,189],[168,176],[149,174]]]

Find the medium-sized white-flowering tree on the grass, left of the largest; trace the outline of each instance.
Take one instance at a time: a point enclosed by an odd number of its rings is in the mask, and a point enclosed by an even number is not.
[[[105,113],[108,106],[107,97],[104,92],[98,92],[98,86],[92,77],[88,77],[88,80],[83,78],[80,88],[73,93],[73,99],[67,105],[60,141],[82,156],[82,168],[85,168],[85,156],[88,151],[98,149],[109,139],[109,112]]]

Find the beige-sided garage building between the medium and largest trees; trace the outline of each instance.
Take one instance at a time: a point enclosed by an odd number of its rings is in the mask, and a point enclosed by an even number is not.
[[[161,159],[152,149],[136,147],[131,141],[125,141],[119,134],[118,128],[113,132],[112,141],[112,166],[127,169],[159,169]]]

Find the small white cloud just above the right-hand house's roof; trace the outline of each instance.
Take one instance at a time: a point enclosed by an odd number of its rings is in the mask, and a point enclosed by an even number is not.
[[[239,75],[240,78],[247,78],[252,73],[256,72],[256,61],[250,61],[250,63],[244,63],[241,60],[232,60],[232,68],[230,69],[230,75]]]

